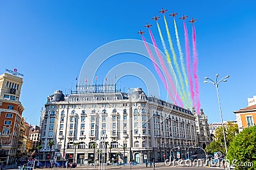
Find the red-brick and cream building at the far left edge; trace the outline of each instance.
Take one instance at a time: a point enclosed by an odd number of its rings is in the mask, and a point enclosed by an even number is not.
[[[15,162],[20,122],[24,107],[20,103],[22,78],[4,73],[0,75],[0,162]]]

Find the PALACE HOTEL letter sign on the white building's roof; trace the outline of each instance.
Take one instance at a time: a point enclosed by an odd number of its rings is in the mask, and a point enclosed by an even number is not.
[[[76,92],[77,93],[104,93],[104,92],[117,92],[117,90],[116,90],[116,85],[79,85],[76,87]]]

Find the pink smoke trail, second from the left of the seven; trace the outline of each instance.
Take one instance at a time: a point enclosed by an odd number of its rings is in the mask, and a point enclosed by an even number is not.
[[[169,81],[170,84],[171,84],[171,88],[172,88],[173,90],[176,90],[175,85],[173,84],[172,78],[171,78],[170,74],[168,74],[168,71],[167,71],[167,69],[166,69],[166,67],[165,67],[165,65],[164,65],[164,61],[163,61],[163,59],[162,59],[162,57],[161,57],[161,54],[159,53],[159,50],[158,50],[158,48],[157,48],[157,45],[156,45],[156,41],[155,41],[155,39],[154,39],[154,36],[153,36],[151,30],[150,30],[150,29],[148,29],[148,30],[149,30],[150,37],[151,37],[151,39],[152,39],[154,48],[155,48],[155,50],[156,50],[157,57],[158,57],[159,60],[160,60],[161,66],[163,67],[164,74],[167,76],[167,79],[168,79],[168,81]],[[180,100],[180,96],[177,94],[177,91],[176,91],[176,96],[177,96],[177,101],[178,101],[178,103],[180,104],[181,107],[183,107],[183,103],[182,103],[182,101]]]

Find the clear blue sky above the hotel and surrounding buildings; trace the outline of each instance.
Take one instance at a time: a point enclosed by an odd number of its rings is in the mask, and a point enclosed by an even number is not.
[[[216,89],[204,84],[204,77],[230,74],[220,85],[224,120],[234,120],[232,111],[247,106],[255,95],[255,1],[1,1],[0,3],[0,73],[17,68],[24,74],[20,101],[24,117],[38,124],[40,110],[54,90],[65,92],[76,83],[84,60],[95,49],[117,39],[140,39],[138,30],[147,22],[161,50],[156,23],[151,20],[161,8],[197,18],[196,43],[201,108],[209,122],[220,122]],[[159,15],[161,17],[161,15]],[[162,18],[163,19],[163,18]],[[182,41],[183,27],[177,26]],[[159,20],[164,30],[163,20]],[[191,38],[191,25],[188,25]],[[172,22],[170,22],[172,27]],[[184,38],[183,38],[184,39]],[[124,54],[109,63],[148,60]],[[102,65],[108,71],[108,63]],[[151,65],[152,67],[152,65]],[[102,71],[102,72],[104,72]],[[153,71],[154,72],[154,71]],[[156,73],[156,72],[155,72]],[[154,73],[154,74],[155,74]],[[104,74],[99,79],[104,79]],[[108,78],[111,80],[111,78]],[[113,78],[114,79],[114,78]],[[146,87],[139,78],[125,76],[122,87]]]

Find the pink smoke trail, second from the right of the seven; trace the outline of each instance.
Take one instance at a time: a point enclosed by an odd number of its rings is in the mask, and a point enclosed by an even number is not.
[[[188,70],[188,79],[189,79],[189,89],[191,92],[191,98],[193,101],[193,108],[195,108],[195,93],[193,89],[193,80],[192,80],[192,74],[190,69],[190,50],[189,50],[189,41],[188,41],[188,29],[186,27],[186,22],[184,21],[184,32],[185,32],[185,45],[186,45],[186,67]]]

